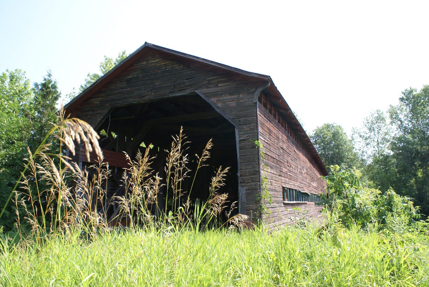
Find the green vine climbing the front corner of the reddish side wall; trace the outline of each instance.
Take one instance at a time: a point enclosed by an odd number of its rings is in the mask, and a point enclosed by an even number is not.
[[[258,218],[264,215],[271,214],[268,206],[272,203],[272,195],[269,193],[269,182],[267,172],[269,171],[268,166],[263,163],[265,161],[265,152],[262,143],[258,140],[254,140],[256,148],[259,150],[261,157],[261,193],[257,198],[258,202]]]

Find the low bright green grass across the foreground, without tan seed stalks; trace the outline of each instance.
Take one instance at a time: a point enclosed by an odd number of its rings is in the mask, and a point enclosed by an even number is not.
[[[2,241],[1,286],[428,286],[429,240],[311,224]]]

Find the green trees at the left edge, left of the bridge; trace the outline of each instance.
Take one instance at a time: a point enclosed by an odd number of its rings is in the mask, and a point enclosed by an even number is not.
[[[60,97],[50,72],[33,88],[21,70],[0,76],[0,206],[3,207],[12,187],[20,176],[22,159],[28,157],[26,147],[32,150],[41,142],[57,111]],[[51,141],[54,143],[55,141]],[[57,151],[58,145],[51,146]],[[34,184],[34,183],[32,183]],[[15,224],[15,210],[6,208],[0,225],[10,230]]]

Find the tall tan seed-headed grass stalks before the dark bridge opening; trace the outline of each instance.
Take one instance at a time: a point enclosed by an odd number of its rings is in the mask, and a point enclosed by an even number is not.
[[[49,136],[56,136],[73,155],[76,143],[85,146],[88,161],[89,152],[94,150],[98,155],[97,164],[81,169],[78,164],[69,163],[70,158],[61,151],[60,154],[49,153],[49,145],[46,144]],[[211,139],[202,154],[196,154],[197,166],[189,190],[182,188],[192,172],[187,167],[190,161],[186,153],[189,142],[180,129],[178,135],[172,138],[171,148],[166,150],[164,175],[154,173],[152,169],[154,157],[151,156],[151,145],[144,151],[138,150],[134,158],[125,154],[129,167],[124,169],[118,188],[123,193],[117,191],[118,194],[113,196],[108,194],[108,181],[113,181],[111,169],[103,161],[98,139],[99,136],[88,123],[77,118],[64,118],[60,113],[58,124],[49,131],[35,153],[28,150],[24,171],[11,193],[16,205],[19,240],[44,240],[58,233],[67,235],[77,232],[91,238],[118,224],[125,224],[129,229],[162,228],[173,224],[175,227],[201,230],[219,227],[221,214],[226,215],[224,224],[231,228],[239,228],[247,220],[245,215],[233,215],[236,202],[228,204],[228,194],[218,192],[224,186],[228,167],[223,169],[220,166],[214,171],[211,183],[206,187],[208,199],[191,202],[191,193],[198,192],[193,190],[198,171],[206,166],[210,158]],[[20,189],[16,190],[18,184]],[[163,187],[165,202],[171,199],[171,206],[158,204]],[[118,208],[109,213],[108,210],[116,205]],[[20,209],[24,210],[24,214],[19,214]],[[30,232],[24,232],[26,229],[23,227],[28,226]]]

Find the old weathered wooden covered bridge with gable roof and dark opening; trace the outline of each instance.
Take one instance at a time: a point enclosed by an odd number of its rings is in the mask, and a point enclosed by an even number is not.
[[[106,132],[100,147],[113,179],[127,167],[122,151],[133,157],[142,143],[154,145],[160,159],[154,169],[162,173],[163,151],[182,126],[190,151],[202,150],[212,138],[209,165],[231,167],[221,192],[239,202],[237,212],[258,214],[265,178],[273,199],[264,218],[269,224],[320,210],[314,202],[326,187],[320,178],[326,167],[269,76],[145,43],[65,109]],[[255,141],[262,143],[264,159]],[[73,160],[88,164],[84,151]],[[199,198],[207,196],[212,172],[206,168],[199,175]]]

